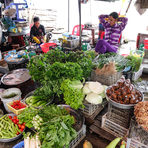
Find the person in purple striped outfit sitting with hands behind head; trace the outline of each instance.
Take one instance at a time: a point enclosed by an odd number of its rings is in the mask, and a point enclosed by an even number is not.
[[[128,19],[125,17],[118,18],[118,13],[116,12],[112,12],[110,15],[100,15],[99,19],[105,29],[105,38],[98,41],[95,51],[100,54],[117,52],[119,38]]]

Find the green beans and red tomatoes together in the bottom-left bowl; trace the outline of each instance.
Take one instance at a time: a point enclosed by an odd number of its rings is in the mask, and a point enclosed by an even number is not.
[[[19,124],[16,116],[4,115],[0,118],[0,129],[0,139],[11,139],[24,131],[25,124]]]

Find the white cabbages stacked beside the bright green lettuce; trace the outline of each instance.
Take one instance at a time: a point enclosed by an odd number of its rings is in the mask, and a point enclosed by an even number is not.
[[[83,87],[83,93],[86,95],[85,100],[91,104],[101,104],[105,98],[105,89],[107,86],[99,82],[86,82]]]

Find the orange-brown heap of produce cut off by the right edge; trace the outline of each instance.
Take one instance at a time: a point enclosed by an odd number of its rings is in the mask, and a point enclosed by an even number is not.
[[[136,104],[134,114],[138,124],[148,132],[148,101]]]

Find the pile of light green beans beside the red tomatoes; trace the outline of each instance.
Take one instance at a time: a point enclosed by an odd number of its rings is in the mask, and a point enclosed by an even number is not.
[[[0,118],[0,139],[10,139],[17,136],[21,131],[17,124],[14,124],[7,115]]]

